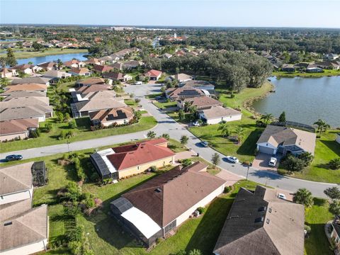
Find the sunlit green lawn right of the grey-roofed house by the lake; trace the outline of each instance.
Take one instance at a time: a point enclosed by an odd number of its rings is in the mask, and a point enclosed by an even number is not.
[[[337,132],[339,130],[322,133],[321,138],[317,138],[315,157],[311,166],[302,172],[292,174],[292,176],[310,181],[340,183],[340,170],[331,170],[327,166],[331,159],[340,157],[340,145],[335,141]],[[286,174],[282,169],[280,171]]]

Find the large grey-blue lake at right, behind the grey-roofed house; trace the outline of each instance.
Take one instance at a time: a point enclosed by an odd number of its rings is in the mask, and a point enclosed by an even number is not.
[[[319,118],[340,127],[340,77],[271,78],[276,93],[254,101],[259,113],[276,118],[285,111],[287,120],[312,125]]]

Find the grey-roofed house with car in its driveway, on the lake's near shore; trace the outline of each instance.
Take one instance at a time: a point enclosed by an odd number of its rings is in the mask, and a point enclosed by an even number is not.
[[[267,125],[256,145],[259,152],[271,155],[276,153],[285,155],[288,152],[292,154],[303,152],[314,154],[316,137],[317,135],[314,132]]]

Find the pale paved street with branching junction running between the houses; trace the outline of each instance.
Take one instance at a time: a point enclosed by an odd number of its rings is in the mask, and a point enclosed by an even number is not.
[[[163,133],[168,133],[171,138],[176,140],[180,140],[182,135],[186,135],[189,137],[188,147],[192,148],[195,152],[200,154],[200,157],[203,159],[210,161],[212,154],[215,153],[214,149],[210,147],[205,148],[200,146],[200,140],[195,137],[191,132],[183,128],[179,123],[176,123],[172,118],[170,118],[166,113],[159,111],[159,109],[154,106],[149,99],[144,98],[147,94],[152,94],[155,92],[159,92],[161,85],[159,84],[152,84],[152,85],[133,85],[128,86],[125,88],[125,91],[128,93],[135,94],[136,97],[141,99],[140,104],[142,108],[148,111],[150,114],[157,119],[158,125],[153,128],[153,131],[157,133],[157,135],[162,135]],[[57,154],[62,152],[68,152],[81,150],[81,149],[89,149],[89,148],[96,148],[102,147],[106,145],[113,145],[120,142],[127,142],[130,140],[139,140],[145,138],[147,131],[143,132],[136,132],[132,134],[126,135],[116,135],[111,137],[103,137],[94,140],[86,140],[80,142],[72,142],[69,144],[64,145],[53,145],[48,147],[40,147],[40,148],[33,148],[27,149],[18,152],[7,152],[0,154],[1,159],[6,157],[8,154],[18,153],[22,154],[25,159],[34,158],[34,157],[42,157],[47,156],[50,154]],[[219,153],[220,154],[220,153]],[[220,154],[220,157],[225,157],[224,155]],[[233,174],[237,174],[238,176],[246,177],[247,168],[242,166],[241,164],[229,164],[227,162],[221,161],[219,165],[222,169],[232,172]],[[295,192],[297,188],[307,188],[312,191],[314,196],[318,197],[325,197],[324,196],[324,189],[330,186],[336,186],[336,184],[329,184],[329,183],[317,183],[313,181],[304,181],[300,179],[293,179],[286,176],[280,176],[279,174],[274,173],[273,171],[266,171],[266,170],[259,170],[254,168],[249,168],[248,179],[251,181],[256,181],[258,183],[263,183],[268,186],[273,186],[276,188],[282,188],[287,191]]]

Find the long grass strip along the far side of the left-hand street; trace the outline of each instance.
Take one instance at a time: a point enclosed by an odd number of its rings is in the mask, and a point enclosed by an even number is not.
[[[54,118],[50,118],[47,122],[53,123],[53,130],[49,133],[42,132],[40,137],[30,140],[19,140],[13,142],[6,142],[1,144],[1,152],[11,152],[20,149],[30,149],[34,147],[43,147],[48,145],[57,145],[66,143],[66,140],[58,140],[61,130],[69,129],[67,123],[55,123]],[[157,124],[157,120],[152,116],[142,117],[139,123],[132,124],[130,126],[118,127],[118,128],[107,128],[103,130],[90,130],[89,118],[78,118],[76,119],[77,128],[74,129],[74,137],[69,139],[69,142],[76,142],[81,140],[89,140],[99,137],[107,137],[110,135],[123,135],[130,132],[138,132],[142,130],[149,130]],[[43,126],[41,123],[40,126]]]

